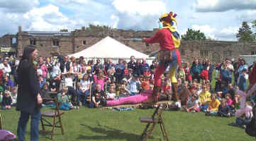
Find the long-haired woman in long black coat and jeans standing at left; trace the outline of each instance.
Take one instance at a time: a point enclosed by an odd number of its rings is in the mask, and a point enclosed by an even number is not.
[[[40,87],[37,73],[33,61],[38,56],[38,50],[35,47],[27,46],[24,48],[23,56],[18,65],[18,95],[16,109],[21,111],[18,121],[17,136],[19,141],[25,140],[26,125],[29,116],[31,116],[30,140],[39,140],[40,123]]]

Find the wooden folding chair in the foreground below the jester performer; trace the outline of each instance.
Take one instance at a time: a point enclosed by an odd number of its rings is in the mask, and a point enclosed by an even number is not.
[[[165,131],[165,125],[161,116],[162,111],[164,111],[166,107],[167,107],[167,104],[162,104],[162,106],[157,106],[157,108],[154,111],[154,114],[151,117],[140,117],[140,123],[148,123],[148,125],[146,125],[146,128],[140,137],[140,140],[147,141],[150,135],[152,134],[152,131],[154,130],[155,125],[158,123],[160,124],[162,136],[164,137],[164,140],[169,141],[167,137],[167,133]]]

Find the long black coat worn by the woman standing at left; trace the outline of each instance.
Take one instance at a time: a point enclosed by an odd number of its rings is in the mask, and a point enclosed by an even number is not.
[[[32,114],[39,109],[37,95],[40,92],[38,76],[35,68],[23,60],[18,68],[18,94],[16,110]]]

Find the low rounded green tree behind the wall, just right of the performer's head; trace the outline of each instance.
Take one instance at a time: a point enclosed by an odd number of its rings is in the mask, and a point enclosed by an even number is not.
[[[192,30],[188,29],[185,35],[182,35],[182,39],[184,40],[201,40],[206,39],[206,36],[204,35],[204,32],[201,32],[200,30]]]

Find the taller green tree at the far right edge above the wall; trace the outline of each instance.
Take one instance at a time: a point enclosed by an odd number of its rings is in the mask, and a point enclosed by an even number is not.
[[[255,34],[252,32],[247,22],[243,22],[242,27],[239,28],[236,37],[240,42],[255,41]]]

